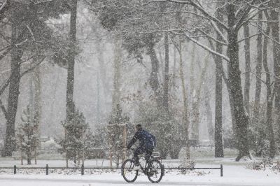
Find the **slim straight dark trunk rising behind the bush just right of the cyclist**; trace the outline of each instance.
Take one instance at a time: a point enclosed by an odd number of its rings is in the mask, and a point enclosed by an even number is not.
[[[169,43],[168,35],[165,34],[165,79],[163,84],[163,100],[162,105],[168,112],[168,90],[169,90]]]

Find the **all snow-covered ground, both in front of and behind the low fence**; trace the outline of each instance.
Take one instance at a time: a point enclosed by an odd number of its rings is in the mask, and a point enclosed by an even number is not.
[[[13,166],[19,163],[15,160],[1,159],[1,166]],[[265,171],[254,171],[246,169],[246,162],[233,162],[232,159],[198,159],[195,167],[218,167],[223,163],[223,177],[220,176],[220,170],[197,170],[190,171],[186,175],[180,171],[167,170],[165,176],[158,185],[261,185],[261,186],[277,186],[280,185],[280,173],[276,173],[270,169]],[[102,160],[98,162],[91,160],[87,161],[87,166],[100,165]],[[38,160],[38,165],[45,166],[64,166],[62,160]],[[104,162],[104,165],[108,161]],[[178,166],[179,160],[163,161],[166,167]],[[25,165],[26,166],[26,165]],[[35,166],[35,165],[31,165]],[[135,183],[126,183],[120,175],[120,171],[99,171],[87,170],[84,176],[80,176],[80,171],[77,173],[71,172],[71,175],[66,175],[63,171],[52,172],[48,176],[45,171],[41,173],[32,173],[30,170],[20,172],[13,175],[12,170],[9,172],[0,171],[1,186],[95,186],[95,185],[155,185],[149,182],[146,176],[139,176]]]

